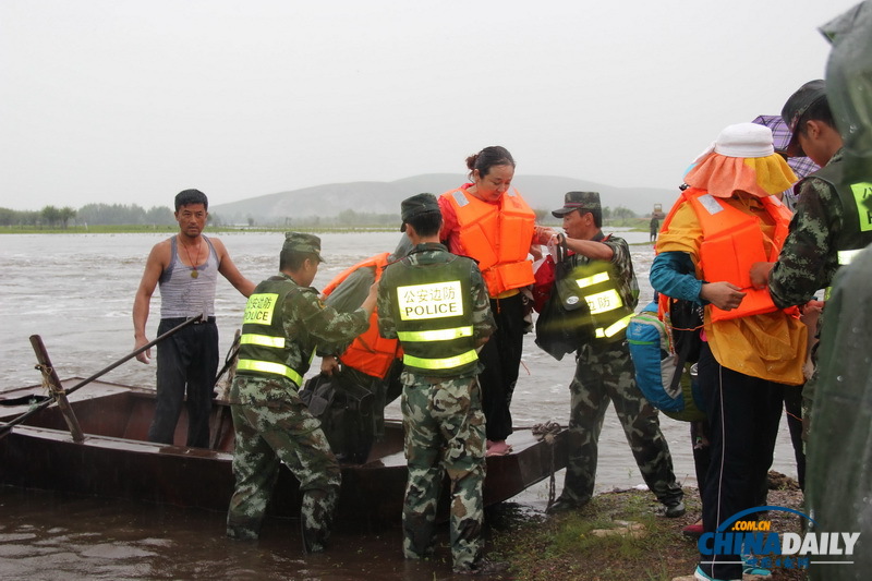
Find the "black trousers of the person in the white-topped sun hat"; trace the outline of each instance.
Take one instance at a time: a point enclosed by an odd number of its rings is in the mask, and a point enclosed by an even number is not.
[[[760,501],[772,465],[785,386],[723,367],[707,343],[700,353],[699,380],[711,425],[702,521],[703,531],[713,533],[736,512]],[[742,577],[740,555],[700,555],[700,567],[715,579]]]

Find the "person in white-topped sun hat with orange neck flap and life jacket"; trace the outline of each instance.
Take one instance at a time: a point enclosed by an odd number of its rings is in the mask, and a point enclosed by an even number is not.
[[[720,133],[687,174],[690,187],[664,221],[651,267],[662,295],[704,305],[698,379],[711,426],[711,461],[700,483],[707,533],[758,506],[784,386],[803,382],[806,326],[798,312],[777,308],[766,289],[753,289],[749,276],[761,256],[777,256],[790,219],[774,194],[796,177],[772,141],[768,128],[753,123]],[[762,572],[738,555],[700,557],[700,580]]]

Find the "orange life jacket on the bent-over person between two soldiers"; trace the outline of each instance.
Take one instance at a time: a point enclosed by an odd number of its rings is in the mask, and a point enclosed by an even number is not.
[[[378,282],[388,264],[389,256],[390,253],[384,252],[346,269],[327,285],[322,294],[329,296],[349,275],[359,268],[375,268],[375,282]],[[370,315],[370,328],[351,342],[346,352],[339,356],[339,361],[366,375],[384,379],[390,364],[399,356],[399,350],[400,342],[397,339],[385,339],[378,334],[378,310],[373,310],[373,314]]]

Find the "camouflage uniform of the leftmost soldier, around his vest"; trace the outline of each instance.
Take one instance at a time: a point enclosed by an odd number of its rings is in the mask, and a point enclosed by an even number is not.
[[[250,303],[266,285],[287,290],[280,323],[287,344],[284,364],[301,376],[308,370],[316,341],[347,341],[367,328],[368,317],[362,308],[337,313],[320,303],[315,289],[299,287],[284,274],[258,285]],[[241,351],[240,359],[243,356]],[[244,370],[233,379],[230,403],[237,433],[237,487],[227,516],[227,534],[257,538],[280,463],[284,462],[300,481],[303,494],[303,541],[308,550],[319,550],[329,536],[341,474],[320,423],[300,401],[298,388],[286,376]]]

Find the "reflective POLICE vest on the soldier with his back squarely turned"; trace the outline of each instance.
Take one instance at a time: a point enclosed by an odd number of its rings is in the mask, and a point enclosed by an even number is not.
[[[446,253],[412,266],[409,258],[385,270],[397,337],[405,368],[421,375],[474,373],[475,352],[469,258]]]

